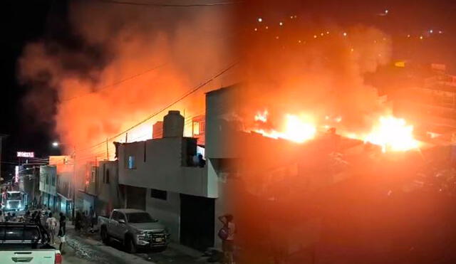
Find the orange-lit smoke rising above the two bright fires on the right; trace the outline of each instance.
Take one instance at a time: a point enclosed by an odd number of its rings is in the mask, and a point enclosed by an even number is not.
[[[284,17],[252,25],[245,38],[245,100],[252,105],[247,117],[253,120],[263,109],[272,122],[274,115],[279,122],[285,113],[306,113],[316,120],[341,117],[339,127],[366,131],[378,115],[390,111],[364,80],[390,60],[385,33],[368,26],[309,28],[301,16]]]

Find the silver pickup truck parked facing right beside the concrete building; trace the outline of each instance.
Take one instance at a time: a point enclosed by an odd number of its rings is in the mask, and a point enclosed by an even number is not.
[[[170,233],[149,213],[137,209],[114,209],[110,217],[98,216],[103,243],[120,241],[129,253],[138,249],[161,248],[170,242]]]

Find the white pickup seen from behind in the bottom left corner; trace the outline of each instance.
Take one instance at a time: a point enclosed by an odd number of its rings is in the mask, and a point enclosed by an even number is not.
[[[60,251],[48,241],[48,233],[34,223],[0,223],[0,263],[61,264]]]

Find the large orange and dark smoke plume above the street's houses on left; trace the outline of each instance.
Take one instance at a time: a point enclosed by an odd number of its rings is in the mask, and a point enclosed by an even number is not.
[[[73,3],[54,21],[67,26],[24,48],[19,76],[33,87],[26,101],[37,118],[55,120],[63,142],[83,148],[112,137],[232,62],[229,9]],[[174,108],[202,114],[204,95]]]

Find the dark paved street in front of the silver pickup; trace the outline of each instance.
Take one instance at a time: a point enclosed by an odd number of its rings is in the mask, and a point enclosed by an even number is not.
[[[104,245],[98,234],[92,236],[79,235],[73,226],[68,226],[67,245],[63,250],[63,263],[71,264],[123,264],[123,263],[206,263],[199,253],[193,250],[180,249],[178,245],[170,245],[163,252],[129,254],[121,250],[119,243],[113,241]],[[184,252],[185,251],[185,252]]]

